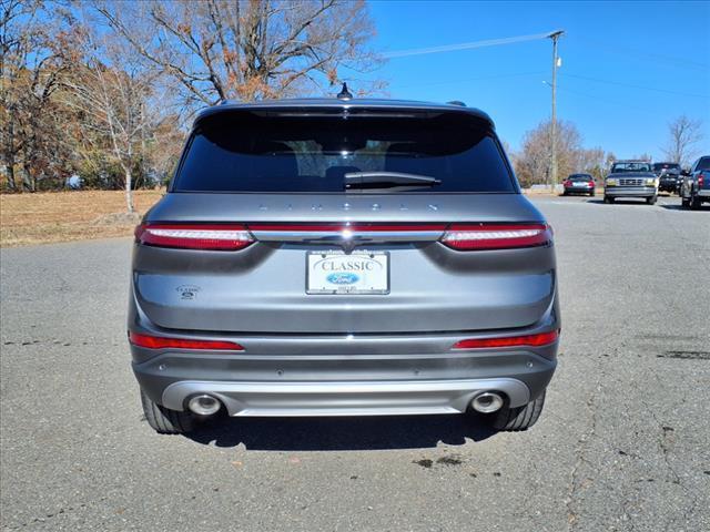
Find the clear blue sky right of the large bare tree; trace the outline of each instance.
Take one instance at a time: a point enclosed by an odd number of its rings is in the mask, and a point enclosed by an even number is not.
[[[587,147],[662,158],[667,123],[703,121],[710,151],[710,2],[448,2],[375,0],[384,52],[564,29],[558,119]],[[549,39],[389,59],[390,98],[463,100],[488,112],[514,150],[550,116]]]

